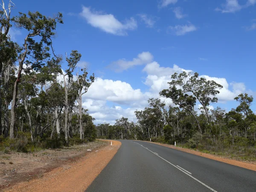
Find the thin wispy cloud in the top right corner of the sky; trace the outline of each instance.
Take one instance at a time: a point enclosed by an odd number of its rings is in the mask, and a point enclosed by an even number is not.
[[[216,8],[215,11],[220,11],[222,13],[234,13],[249,6],[253,6],[255,3],[256,0],[247,0],[246,4],[240,5],[238,0],[226,0],[226,2],[221,5],[222,9]]]

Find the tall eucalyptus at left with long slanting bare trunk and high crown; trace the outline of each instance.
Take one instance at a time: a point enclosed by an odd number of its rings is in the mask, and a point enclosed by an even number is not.
[[[55,17],[47,17],[42,15],[40,12],[28,12],[28,14],[20,13],[20,15],[14,17],[13,21],[17,27],[25,29],[27,31],[27,35],[18,55],[19,64],[17,79],[14,84],[11,108],[11,139],[14,139],[17,89],[23,72],[23,64],[26,64],[35,70],[41,68],[44,64],[43,61],[50,56],[49,50],[52,48],[52,38],[55,35],[54,31],[56,29],[57,22],[63,23],[61,13],[58,13]],[[39,41],[36,41],[38,39]]]

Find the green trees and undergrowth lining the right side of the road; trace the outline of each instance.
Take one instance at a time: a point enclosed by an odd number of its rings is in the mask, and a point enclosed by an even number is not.
[[[231,111],[220,107],[209,109],[218,102],[220,84],[198,73],[175,73],[172,79],[169,89],[160,92],[160,96],[172,99],[172,105],[151,98],[148,107],[135,111],[136,123],[122,117],[115,125],[98,125],[98,137],[151,139],[172,145],[176,141],[184,148],[256,161],[256,115],[250,109],[252,96],[239,94],[234,98],[237,105]],[[201,104],[201,108],[197,110],[196,104]]]

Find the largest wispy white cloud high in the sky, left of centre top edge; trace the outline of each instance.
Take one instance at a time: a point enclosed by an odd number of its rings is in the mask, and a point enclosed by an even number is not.
[[[91,11],[89,7],[85,6],[83,6],[82,9],[79,15],[84,17],[87,23],[107,33],[113,35],[127,35],[127,30],[137,29],[137,22],[133,17],[121,23],[112,14]]]

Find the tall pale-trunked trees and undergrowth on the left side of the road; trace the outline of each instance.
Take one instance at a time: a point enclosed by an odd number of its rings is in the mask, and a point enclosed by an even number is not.
[[[62,14],[12,16],[13,9],[11,0],[1,1],[0,151],[33,152],[95,140],[94,119],[82,108],[94,74],[77,67],[77,50],[64,56],[54,52],[52,39],[63,24]],[[14,26],[25,34],[22,43],[10,37]]]

